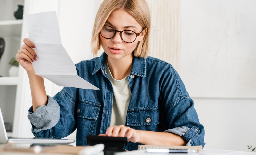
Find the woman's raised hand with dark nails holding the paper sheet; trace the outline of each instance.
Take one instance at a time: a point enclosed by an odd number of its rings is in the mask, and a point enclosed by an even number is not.
[[[37,54],[32,48],[36,48],[36,46],[28,38],[24,38],[23,42],[25,44],[21,46],[20,50],[18,50],[16,59],[28,74],[33,74],[35,71],[31,62],[36,61]]]

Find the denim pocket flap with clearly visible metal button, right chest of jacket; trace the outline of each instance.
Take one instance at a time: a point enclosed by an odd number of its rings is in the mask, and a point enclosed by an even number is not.
[[[138,108],[127,111],[127,125],[149,126],[159,124],[159,108]]]

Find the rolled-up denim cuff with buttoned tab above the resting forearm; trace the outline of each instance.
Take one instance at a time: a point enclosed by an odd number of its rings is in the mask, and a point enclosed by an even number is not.
[[[188,127],[176,127],[173,129],[165,130],[164,132],[180,135],[187,142],[186,146],[191,146],[191,139],[195,137],[200,132],[200,130],[198,127],[193,126],[191,129]]]

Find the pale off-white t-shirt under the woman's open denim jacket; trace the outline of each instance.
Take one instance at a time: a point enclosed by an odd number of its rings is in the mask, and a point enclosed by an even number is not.
[[[109,70],[107,60],[105,62],[106,72],[114,91],[110,126],[125,126],[127,110],[132,96],[128,83],[128,76],[122,80],[114,79]]]

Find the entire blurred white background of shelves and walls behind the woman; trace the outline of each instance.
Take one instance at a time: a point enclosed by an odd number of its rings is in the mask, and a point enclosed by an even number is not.
[[[56,11],[62,45],[79,63],[93,58],[92,28],[102,1],[0,0],[0,107],[8,135],[33,137],[27,118],[32,105],[28,76],[12,60],[27,37],[22,14]],[[256,1],[147,3],[152,19],[149,56],[178,71],[205,127],[204,148],[255,147]],[[52,97],[62,89],[47,79],[44,82]],[[76,139],[76,131],[66,138]]]

